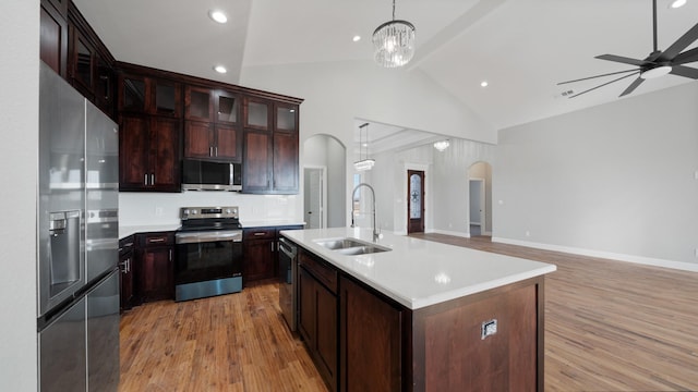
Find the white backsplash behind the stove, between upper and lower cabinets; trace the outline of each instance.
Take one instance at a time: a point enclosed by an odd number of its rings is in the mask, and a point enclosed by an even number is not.
[[[241,221],[302,220],[297,195],[233,192],[119,193],[119,224],[177,224],[180,207],[238,206]]]

